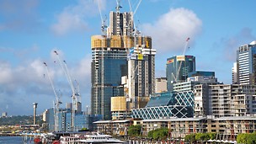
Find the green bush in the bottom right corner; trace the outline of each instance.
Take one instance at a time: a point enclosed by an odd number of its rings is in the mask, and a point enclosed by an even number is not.
[[[239,134],[237,135],[237,143],[254,144],[256,143],[256,134]]]

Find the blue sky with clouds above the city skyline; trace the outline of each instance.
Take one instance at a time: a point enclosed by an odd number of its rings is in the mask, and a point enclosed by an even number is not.
[[[98,4],[99,2],[99,4]],[[121,12],[130,11],[127,0]],[[131,0],[132,10],[139,0]],[[239,45],[256,40],[254,0],[144,0],[135,14],[142,35],[152,36],[157,50],[156,76],[165,77],[170,56],[196,57],[196,70],[214,71],[220,82],[232,83],[232,63]],[[0,113],[32,115],[51,108],[55,95],[43,62],[63,104],[71,88],[53,51],[79,83],[83,108],[90,105],[90,36],[100,35],[101,19],[115,11],[115,0],[0,0]],[[109,24],[109,21],[107,21]]]

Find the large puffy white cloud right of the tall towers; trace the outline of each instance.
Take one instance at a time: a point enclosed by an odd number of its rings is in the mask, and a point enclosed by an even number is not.
[[[143,24],[142,33],[152,36],[153,48],[159,53],[183,51],[185,40],[189,42],[200,34],[202,22],[196,14],[185,8],[171,8],[153,24]]]

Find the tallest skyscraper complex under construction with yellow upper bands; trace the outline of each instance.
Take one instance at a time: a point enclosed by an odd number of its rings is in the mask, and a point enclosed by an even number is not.
[[[120,13],[120,8],[118,5],[116,12],[109,13],[106,35],[91,37],[91,109],[103,120],[111,119],[111,97],[126,96],[127,103],[132,103],[127,105],[136,105],[136,96],[148,97],[154,89],[152,40],[135,33],[133,13]],[[127,77],[129,92],[121,77]],[[125,106],[128,111],[130,108]]]

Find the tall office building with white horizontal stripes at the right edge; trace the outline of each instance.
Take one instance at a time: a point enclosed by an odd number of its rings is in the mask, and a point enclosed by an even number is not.
[[[237,50],[238,84],[256,84],[256,40]]]

